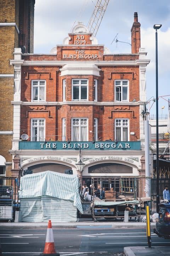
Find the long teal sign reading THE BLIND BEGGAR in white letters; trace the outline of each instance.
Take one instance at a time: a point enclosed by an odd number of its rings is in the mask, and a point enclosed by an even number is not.
[[[141,142],[19,142],[19,150],[141,150]]]

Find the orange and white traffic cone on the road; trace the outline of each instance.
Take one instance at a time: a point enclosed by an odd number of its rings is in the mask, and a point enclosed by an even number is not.
[[[60,254],[58,252],[56,252],[56,250],[55,250],[51,220],[49,220],[48,227],[47,227],[47,234],[46,234],[44,252],[40,253],[40,255],[60,256]]]

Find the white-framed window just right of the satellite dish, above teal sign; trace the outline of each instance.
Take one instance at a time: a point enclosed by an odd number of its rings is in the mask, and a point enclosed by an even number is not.
[[[45,140],[45,118],[31,119],[31,141]]]

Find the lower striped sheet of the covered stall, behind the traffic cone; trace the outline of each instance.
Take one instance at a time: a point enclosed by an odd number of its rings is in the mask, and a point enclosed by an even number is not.
[[[76,222],[77,207],[73,201],[41,196],[21,198],[22,222]]]

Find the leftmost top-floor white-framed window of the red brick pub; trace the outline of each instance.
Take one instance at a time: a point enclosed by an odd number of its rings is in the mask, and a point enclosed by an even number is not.
[[[32,101],[45,101],[45,80],[32,80]]]

